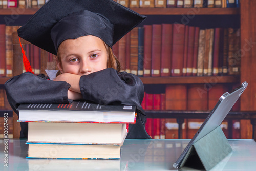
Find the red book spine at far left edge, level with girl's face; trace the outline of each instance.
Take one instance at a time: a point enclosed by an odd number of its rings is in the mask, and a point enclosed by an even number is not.
[[[6,76],[5,25],[0,25],[0,77]]]

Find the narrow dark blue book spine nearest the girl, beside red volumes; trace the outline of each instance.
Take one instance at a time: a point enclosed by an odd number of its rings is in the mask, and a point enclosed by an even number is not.
[[[144,28],[138,28],[138,76],[143,76],[144,65]]]

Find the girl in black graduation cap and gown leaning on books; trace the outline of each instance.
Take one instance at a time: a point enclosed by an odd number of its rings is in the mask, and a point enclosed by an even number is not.
[[[30,72],[8,80],[5,89],[13,110],[18,114],[19,104],[79,99],[103,105],[136,105],[136,124],[129,124],[126,138],[150,138],[140,105],[143,84],[137,76],[119,72],[120,64],[111,49],[144,19],[112,0],[48,1],[18,35],[57,55],[59,74],[54,81]],[[27,138],[27,124],[20,124],[20,138]]]

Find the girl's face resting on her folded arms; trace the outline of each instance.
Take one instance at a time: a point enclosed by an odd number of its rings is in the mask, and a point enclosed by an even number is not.
[[[108,52],[104,42],[88,35],[63,41],[58,53],[57,66],[61,73],[88,75],[107,68]]]

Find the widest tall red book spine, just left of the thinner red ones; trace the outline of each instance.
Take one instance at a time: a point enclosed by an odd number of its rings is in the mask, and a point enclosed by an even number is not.
[[[182,76],[185,25],[173,24],[172,76]]]

